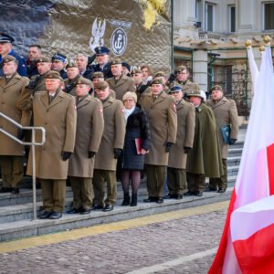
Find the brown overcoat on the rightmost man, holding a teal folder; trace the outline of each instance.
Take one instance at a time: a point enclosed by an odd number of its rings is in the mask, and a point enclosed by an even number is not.
[[[222,158],[227,159],[228,145],[224,142],[220,128],[227,124],[230,125],[231,132],[230,138],[237,139],[238,132],[238,116],[237,116],[237,106],[235,100],[227,99],[223,97],[221,100],[218,100],[216,103],[213,100],[207,100],[206,105],[209,106],[215,115],[216,118],[216,127],[220,142],[220,147],[222,150]]]

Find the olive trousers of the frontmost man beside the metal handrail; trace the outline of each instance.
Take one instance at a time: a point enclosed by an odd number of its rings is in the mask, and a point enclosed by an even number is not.
[[[66,202],[66,180],[40,179],[45,211],[62,213]]]

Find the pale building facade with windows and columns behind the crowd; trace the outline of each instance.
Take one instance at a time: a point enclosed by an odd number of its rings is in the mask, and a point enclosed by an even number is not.
[[[251,103],[245,41],[259,66],[265,35],[274,37],[274,1],[174,0],[174,67],[192,68],[202,90],[221,85],[243,116]]]

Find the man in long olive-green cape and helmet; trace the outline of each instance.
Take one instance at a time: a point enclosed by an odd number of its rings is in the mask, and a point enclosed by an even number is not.
[[[195,137],[193,149],[187,155],[186,180],[188,191],[184,195],[203,195],[205,176],[219,178],[223,174],[221,150],[213,111],[203,102],[200,90],[188,95],[195,106]]]

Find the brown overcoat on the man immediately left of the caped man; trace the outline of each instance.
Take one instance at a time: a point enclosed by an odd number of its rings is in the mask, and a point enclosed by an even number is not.
[[[169,153],[168,166],[185,169],[187,154],[184,147],[193,146],[195,134],[195,107],[193,104],[181,100],[176,104],[177,111],[177,137],[174,147]]]

